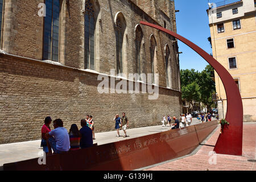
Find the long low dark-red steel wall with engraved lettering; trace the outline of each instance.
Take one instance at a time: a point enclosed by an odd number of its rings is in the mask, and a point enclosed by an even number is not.
[[[133,170],[190,154],[217,127],[217,120],[182,129],[4,164],[4,170]]]

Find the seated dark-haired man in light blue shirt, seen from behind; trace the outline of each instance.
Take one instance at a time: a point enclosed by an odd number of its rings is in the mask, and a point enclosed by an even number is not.
[[[55,119],[53,121],[54,130],[46,133],[46,138],[54,137],[55,140],[49,140],[52,149],[55,153],[61,154],[68,152],[70,149],[68,130],[63,127],[63,121],[61,119]],[[53,147],[56,144],[56,148]]]

